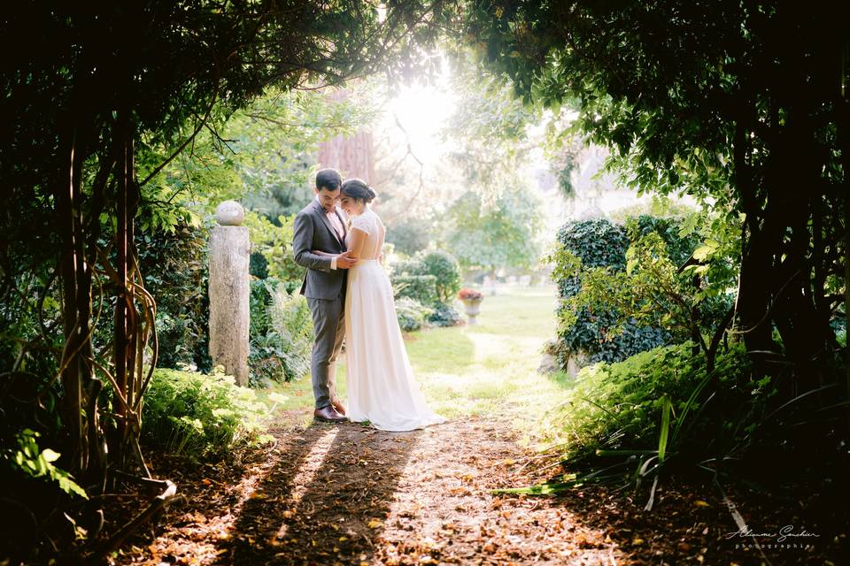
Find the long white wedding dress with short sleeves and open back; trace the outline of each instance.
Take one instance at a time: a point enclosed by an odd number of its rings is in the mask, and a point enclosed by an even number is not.
[[[386,228],[371,209],[352,217],[352,229],[366,233],[357,265],[349,269],[345,297],[347,416],[383,431],[411,431],[445,418],[428,408],[407,359],[392,298],[392,286],[378,261]],[[351,249],[352,231],[346,244]]]

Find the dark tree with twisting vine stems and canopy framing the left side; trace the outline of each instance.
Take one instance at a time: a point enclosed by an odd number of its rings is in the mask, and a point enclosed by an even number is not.
[[[4,7],[2,314],[10,325],[20,315],[38,324],[12,337],[17,350],[4,356],[13,362],[2,371],[7,384],[40,384],[27,398],[33,407],[60,384],[59,463],[89,493],[104,490],[110,466],[135,462],[147,472],[136,438],[156,363],[155,303],[138,271],[134,218],[141,187],[170,158],[137,164],[138,150],[190,151],[213,114],[227,116],[271,85],[313,88],[429,65],[421,50],[452,15],[441,0],[385,10],[354,0]],[[93,319],[111,308],[112,343],[96,350]],[[145,361],[149,343],[154,359]],[[104,384],[113,413],[105,423]],[[4,437],[20,424],[4,422]]]

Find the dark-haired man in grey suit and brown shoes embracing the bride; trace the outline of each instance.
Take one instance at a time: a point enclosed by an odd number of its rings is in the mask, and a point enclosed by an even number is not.
[[[336,398],[336,358],[345,334],[345,283],[357,264],[345,249],[345,223],[336,204],[343,178],[336,169],[316,173],[316,198],[295,217],[292,253],[307,273],[301,294],[313,313],[313,417],[328,423],[348,420]],[[317,253],[321,252],[321,253]]]

